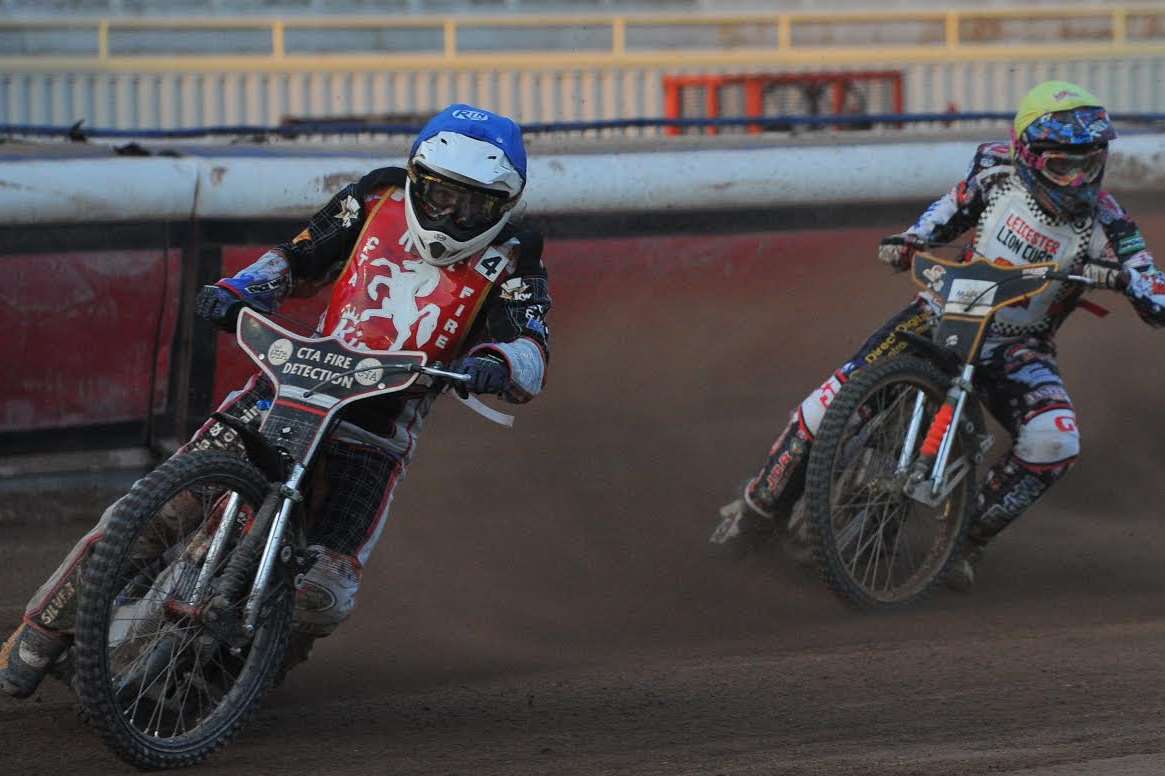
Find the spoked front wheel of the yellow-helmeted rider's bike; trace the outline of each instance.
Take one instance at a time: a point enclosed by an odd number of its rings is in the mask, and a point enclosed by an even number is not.
[[[918,600],[946,576],[966,538],[975,433],[956,436],[951,460],[966,458],[966,474],[938,507],[908,496],[908,472],[898,471],[918,390],[926,398],[913,456],[949,382],[932,364],[898,357],[855,374],[826,411],[806,473],[810,535],[826,584],[853,606]],[[970,402],[967,418],[979,428]]]

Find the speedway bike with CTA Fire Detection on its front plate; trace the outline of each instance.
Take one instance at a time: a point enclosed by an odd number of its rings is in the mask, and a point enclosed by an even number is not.
[[[246,456],[193,451],[114,507],[79,592],[73,682],[105,742],[146,769],[200,762],[281,672],[315,557],[308,484],[348,404],[468,376],[411,351],[302,337],[245,309],[238,344],[274,396],[261,424],[216,412]]]

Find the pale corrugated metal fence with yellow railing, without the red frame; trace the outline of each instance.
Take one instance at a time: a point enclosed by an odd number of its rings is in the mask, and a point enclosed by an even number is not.
[[[895,70],[911,112],[1087,84],[1165,111],[1165,6],[841,14],[0,21],[0,124],[113,128],[416,117],[664,115],[665,76]],[[644,130],[655,132],[655,129]]]

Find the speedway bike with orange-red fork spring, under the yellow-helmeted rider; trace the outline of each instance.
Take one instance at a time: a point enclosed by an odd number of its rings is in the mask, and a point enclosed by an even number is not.
[[[974,383],[984,333],[996,312],[1054,292],[1055,281],[1092,285],[1055,267],[915,254],[913,282],[937,308],[931,334],[895,332],[902,352],[862,367],[841,386],[806,470],[804,520],[813,560],[847,604],[910,605],[959,558],[976,468],[994,442]]]

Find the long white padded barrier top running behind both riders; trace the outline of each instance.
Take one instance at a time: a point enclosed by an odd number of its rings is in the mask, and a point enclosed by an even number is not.
[[[539,156],[534,213],[662,212],[935,198],[973,142]],[[0,224],[271,219],[311,214],[384,157],[28,160],[0,163]],[[1165,188],[1165,135],[1114,144],[1106,186]]]

